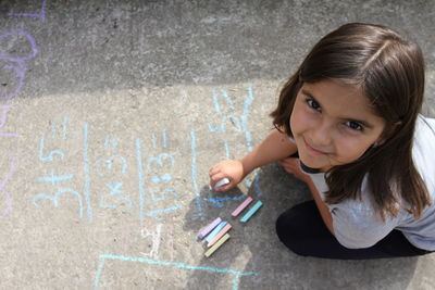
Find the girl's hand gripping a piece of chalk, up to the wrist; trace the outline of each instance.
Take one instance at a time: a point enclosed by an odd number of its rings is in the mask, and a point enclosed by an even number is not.
[[[224,160],[213,165],[209,172],[210,186],[214,188],[214,185],[223,179],[228,178],[229,184],[219,187],[216,191],[227,191],[236,187],[244,179],[244,165],[240,161]]]

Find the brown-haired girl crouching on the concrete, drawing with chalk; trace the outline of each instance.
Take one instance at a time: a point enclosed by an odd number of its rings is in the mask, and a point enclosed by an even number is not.
[[[418,45],[352,23],[322,38],[285,84],[275,129],[240,161],[210,169],[217,190],[279,161],[313,201],[284,212],[279,240],[300,255],[378,259],[435,251],[435,119],[419,114]]]

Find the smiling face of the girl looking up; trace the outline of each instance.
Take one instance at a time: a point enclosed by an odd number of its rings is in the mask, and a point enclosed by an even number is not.
[[[327,79],[303,84],[290,127],[303,164],[325,172],[382,143],[385,121],[374,114],[357,86]]]

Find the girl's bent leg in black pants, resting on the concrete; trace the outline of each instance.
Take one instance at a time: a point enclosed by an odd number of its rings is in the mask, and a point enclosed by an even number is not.
[[[304,256],[361,260],[428,253],[413,247],[398,230],[393,230],[371,248],[347,249],[328,231],[314,201],[303,202],[284,212],[276,220],[276,232],[288,249]]]

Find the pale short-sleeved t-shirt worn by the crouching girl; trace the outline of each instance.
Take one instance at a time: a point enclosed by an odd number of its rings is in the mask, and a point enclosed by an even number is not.
[[[435,119],[419,116],[412,157],[432,197],[433,205],[425,207],[418,220],[412,214],[400,210],[395,218],[387,216],[383,222],[372,206],[364,178],[361,201],[346,200],[338,204],[326,204],[333,216],[334,234],[339,243],[349,249],[369,248],[393,229],[398,229],[417,248],[435,251]],[[307,174],[324,200],[324,192],[327,191],[325,174]]]

